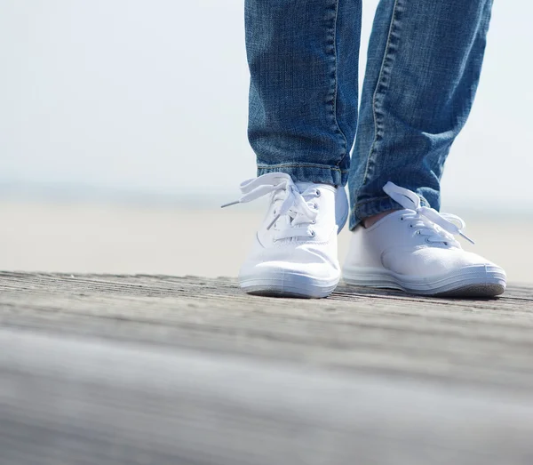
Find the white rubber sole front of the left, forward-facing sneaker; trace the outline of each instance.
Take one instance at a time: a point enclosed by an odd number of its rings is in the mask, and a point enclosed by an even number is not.
[[[340,278],[324,281],[290,273],[275,277],[239,277],[241,289],[245,293],[264,297],[297,297],[300,299],[328,297],[339,281]]]

